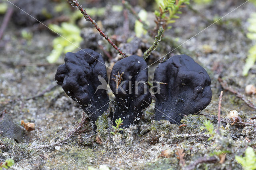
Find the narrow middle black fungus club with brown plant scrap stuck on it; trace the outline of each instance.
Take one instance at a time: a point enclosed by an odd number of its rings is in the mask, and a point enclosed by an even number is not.
[[[121,118],[122,127],[138,124],[143,110],[150,105],[147,82],[147,63],[142,57],[131,55],[114,65],[110,76],[110,88],[116,96],[114,121]]]

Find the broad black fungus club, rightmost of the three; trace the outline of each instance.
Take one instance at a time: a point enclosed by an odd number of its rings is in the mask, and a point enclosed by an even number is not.
[[[153,89],[156,120],[166,119],[180,124],[184,115],[200,113],[212,99],[208,73],[187,55],[175,55],[160,63],[154,81],[162,82],[153,83],[160,85]]]

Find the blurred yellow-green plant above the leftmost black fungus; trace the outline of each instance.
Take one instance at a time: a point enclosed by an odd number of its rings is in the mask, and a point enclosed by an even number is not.
[[[66,22],[63,22],[61,26],[50,24],[49,28],[61,35],[60,37],[55,38],[52,42],[53,50],[47,57],[49,63],[55,63],[62,53],[77,49],[80,42],[83,40],[80,36],[80,28],[74,24]]]

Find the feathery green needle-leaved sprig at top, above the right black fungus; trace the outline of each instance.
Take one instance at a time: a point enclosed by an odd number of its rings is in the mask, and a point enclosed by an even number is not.
[[[166,29],[172,28],[168,24],[174,23],[177,18],[180,18],[177,14],[182,14],[180,8],[184,5],[190,4],[190,0],[156,0],[159,6],[159,11],[155,11],[156,15],[156,30],[160,27]]]

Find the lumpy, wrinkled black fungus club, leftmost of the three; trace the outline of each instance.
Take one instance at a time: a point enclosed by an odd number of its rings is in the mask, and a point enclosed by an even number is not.
[[[55,80],[82,106],[93,123],[108,109],[106,66],[96,51],[82,49],[77,53],[66,53],[65,64],[58,67]]]

